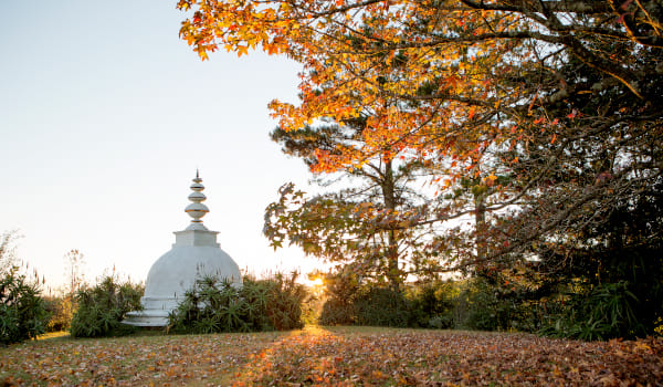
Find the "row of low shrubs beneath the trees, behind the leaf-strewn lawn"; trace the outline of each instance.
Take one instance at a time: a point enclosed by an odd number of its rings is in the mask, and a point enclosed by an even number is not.
[[[508,274],[508,273],[507,273]],[[536,285],[520,273],[476,275],[463,281],[431,280],[394,292],[359,283],[344,272],[326,275],[327,300],[320,324],[382,325],[482,331],[538,328]],[[530,281],[532,282],[532,281]]]

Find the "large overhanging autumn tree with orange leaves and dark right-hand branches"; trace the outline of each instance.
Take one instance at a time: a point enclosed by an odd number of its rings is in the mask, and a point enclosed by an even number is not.
[[[319,170],[358,167],[389,145],[430,163],[441,196],[462,179],[493,195],[481,253],[569,250],[661,178],[657,1],[180,0],[180,34],[304,65],[302,103],[270,106],[284,130],[370,112],[361,149],[317,153]],[[385,73],[391,74],[385,77]],[[498,176],[506,176],[503,181]],[[439,206],[411,222],[467,213]],[[435,249],[430,244],[429,249]],[[564,255],[564,254],[562,254]],[[442,268],[441,268],[442,269]]]

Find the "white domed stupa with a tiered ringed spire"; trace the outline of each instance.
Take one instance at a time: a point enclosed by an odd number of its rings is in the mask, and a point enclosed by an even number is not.
[[[185,211],[191,223],[175,232],[172,249],[161,255],[151,266],[145,282],[145,294],[140,299],[143,311],[127,314],[125,324],[135,326],[166,326],[168,314],[183,301],[185,292],[197,279],[217,275],[241,285],[240,268],[217,243],[217,231],[208,230],[201,218],[210,210],[202,202],[207,199],[198,170],[191,185],[191,203]]]

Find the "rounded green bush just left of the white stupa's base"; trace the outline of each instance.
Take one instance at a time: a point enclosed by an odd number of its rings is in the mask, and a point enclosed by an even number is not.
[[[120,322],[128,312],[141,308],[141,285],[120,282],[113,275],[102,278],[94,287],[80,290],[70,328],[72,336],[120,336],[134,332],[133,326]]]

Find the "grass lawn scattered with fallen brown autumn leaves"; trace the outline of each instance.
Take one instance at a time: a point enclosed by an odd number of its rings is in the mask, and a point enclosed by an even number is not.
[[[620,386],[663,383],[663,339],[381,327],[45,338],[0,348],[0,386]]]

